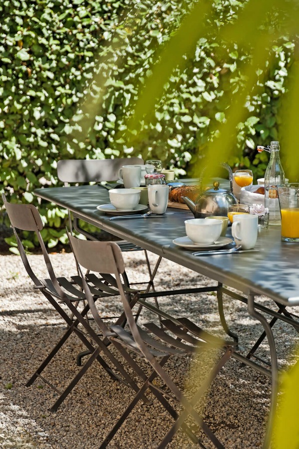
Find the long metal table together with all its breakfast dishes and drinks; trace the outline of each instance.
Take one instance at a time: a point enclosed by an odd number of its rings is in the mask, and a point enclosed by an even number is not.
[[[271,377],[270,423],[278,391],[272,326],[282,320],[299,329],[299,317],[286,309],[299,305],[299,224],[294,222],[299,211],[299,186],[286,183],[284,175],[273,180],[271,174],[269,181],[267,171],[265,184],[253,185],[250,170],[233,174],[227,164],[221,163],[229,172],[229,180],[214,178],[209,180],[210,186],[203,187],[205,168],[198,179],[176,180],[175,172],[163,170],[160,163],[149,160],[144,165],[123,166],[116,181],[42,188],[34,193],[68,209],[77,219],[216,282],[213,288],[220,319],[235,343],[237,336],[224,316],[223,295],[244,302],[249,315],[264,328],[261,342],[267,336],[271,370],[269,362],[263,366],[254,352],[244,356],[237,346],[234,357]],[[271,225],[271,216],[278,220],[277,208],[283,223]],[[257,302],[258,295],[272,299],[273,307]],[[270,323],[261,312],[272,317]],[[268,428],[268,437],[270,431]]]

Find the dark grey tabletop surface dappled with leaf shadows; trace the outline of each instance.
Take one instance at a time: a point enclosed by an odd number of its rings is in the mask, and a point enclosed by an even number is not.
[[[109,203],[108,191],[98,185],[44,188],[34,193],[88,223],[245,294],[265,294],[285,305],[299,305],[299,244],[282,242],[280,226],[259,230],[258,252],[195,257],[172,243],[186,235],[184,221],[193,218],[189,211],[168,208],[163,218],[110,221],[111,216],[96,209]],[[227,236],[231,236],[230,227]]]

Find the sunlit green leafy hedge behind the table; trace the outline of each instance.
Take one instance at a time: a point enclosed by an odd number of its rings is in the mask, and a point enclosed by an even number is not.
[[[215,0],[216,25],[233,22],[245,3]],[[37,205],[32,191],[57,184],[60,158],[150,156],[175,167],[178,175],[198,175],[193,165],[204,160],[209,139],[226,119],[226,92],[233,92],[233,102],[246,82],[241,68],[251,55],[237,43],[220,42],[217,35],[201,38],[185,68],[173,70],[154,119],[141,121],[144,139],[134,147],[126,144],[138,132],[127,128],[138,86],[150,77],[157,50],[191,7],[182,0],[1,2],[0,180],[12,201]],[[218,54],[222,45],[225,52]],[[256,177],[268,163],[267,154],[256,154],[256,144],[279,139],[293,49],[287,37],[269,49],[275,64],[258,94],[248,96],[247,118],[238,124],[234,149],[224,161],[253,168]],[[41,203],[39,212],[48,246],[64,242],[65,211]],[[28,235],[23,237],[32,247]]]

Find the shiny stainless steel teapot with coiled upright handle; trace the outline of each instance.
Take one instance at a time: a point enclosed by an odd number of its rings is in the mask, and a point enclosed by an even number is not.
[[[225,164],[224,162],[221,162],[219,165],[223,168],[226,168],[229,172],[230,192],[225,189],[220,189],[218,181],[215,181],[213,183],[212,189],[203,191],[203,176],[207,169],[207,167],[204,167],[199,178],[201,193],[195,203],[188,197],[182,197],[182,200],[194,214],[195,218],[206,218],[215,215],[227,217],[229,206],[232,204],[237,204],[237,198],[233,194],[232,169],[228,164]]]

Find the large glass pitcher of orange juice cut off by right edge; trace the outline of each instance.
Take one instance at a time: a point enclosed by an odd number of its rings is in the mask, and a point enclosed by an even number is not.
[[[278,186],[278,198],[282,216],[282,241],[299,242],[299,183]]]

